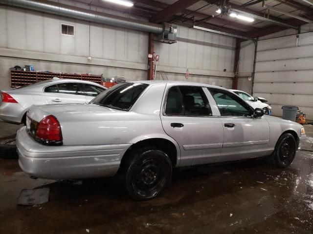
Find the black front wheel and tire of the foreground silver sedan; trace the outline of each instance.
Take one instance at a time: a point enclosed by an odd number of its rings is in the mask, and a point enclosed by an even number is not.
[[[279,137],[274,152],[269,157],[269,162],[277,167],[288,167],[296,153],[296,141],[290,133]]]

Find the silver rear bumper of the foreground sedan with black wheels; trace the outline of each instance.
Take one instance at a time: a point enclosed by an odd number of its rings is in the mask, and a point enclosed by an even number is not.
[[[131,144],[45,146],[22,127],[16,137],[19,165],[30,176],[79,179],[114,176]]]

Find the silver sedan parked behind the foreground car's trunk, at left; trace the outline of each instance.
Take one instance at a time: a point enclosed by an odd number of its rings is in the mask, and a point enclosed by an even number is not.
[[[0,91],[0,119],[14,124],[25,123],[32,105],[88,103],[106,90],[89,81],[53,78],[20,88]]]

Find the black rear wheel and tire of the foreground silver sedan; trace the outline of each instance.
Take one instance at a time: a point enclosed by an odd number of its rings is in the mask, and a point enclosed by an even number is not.
[[[135,200],[149,200],[159,195],[172,178],[172,163],[162,151],[142,148],[133,152],[125,165],[125,184]]]

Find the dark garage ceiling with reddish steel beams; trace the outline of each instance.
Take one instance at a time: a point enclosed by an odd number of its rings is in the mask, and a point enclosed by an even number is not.
[[[152,22],[167,21],[185,24],[189,27],[198,25],[248,38],[262,37],[288,28],[267,20],[254,19],[253,22],[247,22],[228,15],[218,14],[216,10],[220,0],[133,0],[134,6],[131,8],[117,6],[103,0],[76,1],[143,16],[149,18]],[[280,11],[313,20],[313,4],[309,4],[308,1],[310,0],[266,0],[265,3]],[[247,3],[248,5],[246,5]],[[284,22],[293,27],[307,23],[286,14],[268,10],[262,6],[260,0],[229,0],[229,4],[234,9]]]

